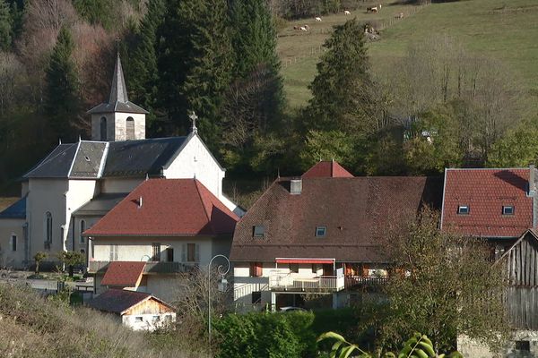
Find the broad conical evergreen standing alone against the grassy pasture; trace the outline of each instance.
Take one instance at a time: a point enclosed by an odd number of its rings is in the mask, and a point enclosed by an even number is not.
[[[317,76],[308,87],[313,98],[304,113],[307,129],[350,134],[371,131],[373,98],[360,23],[353,19],[334,26],[324,47],[326,52],[317,64]]]

